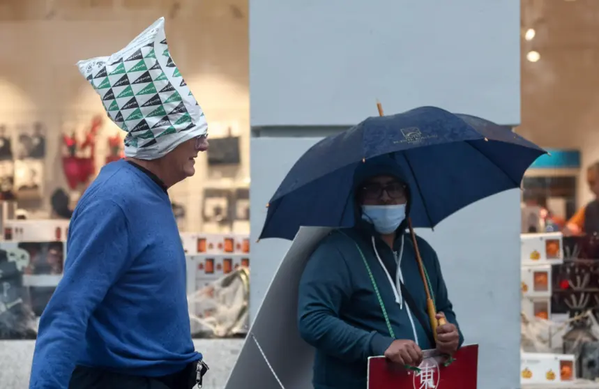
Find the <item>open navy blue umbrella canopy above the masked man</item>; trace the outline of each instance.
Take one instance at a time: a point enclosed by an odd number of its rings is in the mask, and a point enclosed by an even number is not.
[[[291,240],[301,226],[354,226],[354,171],[370,158],[397,161],[411,190],[412,226],[433,228],[475,201],[520,188],[545,153],[510,128],[437,107],[370,117],[301,156],[269,202],[260,238]]]

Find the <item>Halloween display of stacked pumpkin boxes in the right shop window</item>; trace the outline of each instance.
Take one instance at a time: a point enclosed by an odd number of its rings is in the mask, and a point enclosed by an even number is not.
[[[522,349],[527,351],[522,353],[522,385],[599,378],[596,237],[543,233],[521,238]]]

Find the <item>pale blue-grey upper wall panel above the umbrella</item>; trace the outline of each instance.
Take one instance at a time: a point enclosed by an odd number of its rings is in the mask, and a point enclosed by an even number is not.
[[[520,123],[520,1],[250,1],[251,123],[437,105]]]

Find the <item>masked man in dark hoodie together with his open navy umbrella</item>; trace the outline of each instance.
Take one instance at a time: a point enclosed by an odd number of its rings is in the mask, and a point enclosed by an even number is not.
[[[379,105],[379,116],[306,151],[268,202],[259,236],[331,229],[301,265],[296,289],[298,335],[316,349],[316,389],[364,388],[370,356],[418,371],[423,350],[451,357],[460,349],[439,259],[414,228],[520,188],[547,154],[508,126],[439,107],[384,116]]]

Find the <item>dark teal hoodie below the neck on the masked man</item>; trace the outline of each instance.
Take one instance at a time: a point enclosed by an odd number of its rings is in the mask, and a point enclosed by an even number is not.
[[[417,242],[437,310],[457,326],[437,254],[423,238],[418,237]],[[427,336],[432,335],[430,324],[426,322],[426,329],[420,325],[416,312],[408,312],[403,297],[397,302],[393,285],[377,258],[378,254],[392,280],[402,276],[416,309],[427,321],[424,284],[409,235],[398,234],[391,250],[371,227],[334,231],[310,257],[298,290],[298,329],[316,349],[315,389],[365,388],[367,358],[384,355],[394,340],[356,243],[377,282],[395,338],[414,340],[423,350],[434,347]],[[399,261],[401,273],[397,273]],[[463,341],[460,332],[460,345]]]

